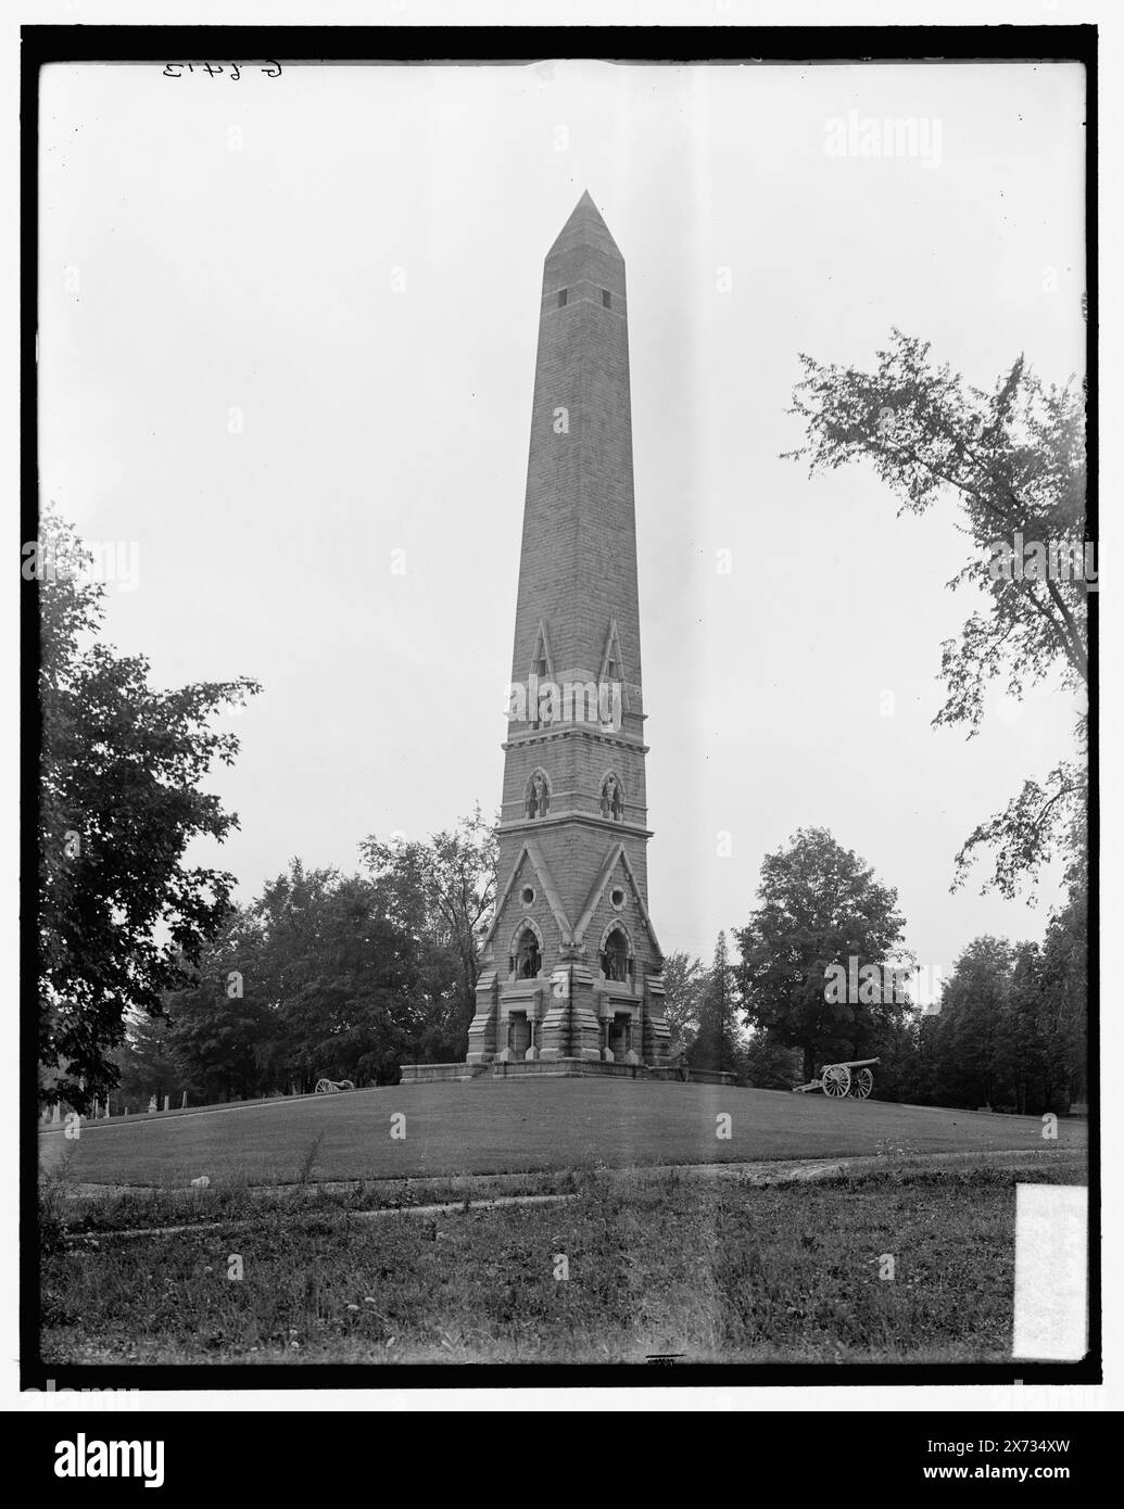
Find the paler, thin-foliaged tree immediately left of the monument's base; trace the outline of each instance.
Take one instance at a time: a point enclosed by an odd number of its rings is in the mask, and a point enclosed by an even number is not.
[[[454,828],[427,841],[388,844],[371,836],[359,848],[383,914],[453,960],[456,996],[431,1041],[450,1059],[462,1059],[475,1011],[480,945],[496,898],[495,830],[477,806]]]

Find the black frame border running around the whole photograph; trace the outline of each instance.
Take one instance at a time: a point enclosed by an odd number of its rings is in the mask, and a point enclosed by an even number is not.
[[[1098,539],[1097,371],[1097,44],[1095,26],[901,27],[355,27],[355,26],[24,26],[20,63],[21,519],[38,536],[38,226],[39,71],[50,63],[152,63],[174,59],[278,59],[291,63],[527,65],[548,59],[628,63],[818,65],[1076,62],[1086,77],[1085,237],[1089,490],[1086,536]],[[38,582],[21,582],[21,913],[20,913],[20,1387],[139,1390],[516,1388],[668,1385],[997,1385],[1101,1382],[1100,1269],[1100,758],[1098,599],[1089,595],[1089,1352],[1079,1363],[957,1364],[45,1364],[39,1354],[38,1180]]]

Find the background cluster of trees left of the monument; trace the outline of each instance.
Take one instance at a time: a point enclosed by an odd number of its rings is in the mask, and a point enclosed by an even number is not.
[[[324,1077],[385,1085],[403,1062],[463,1059],[493,850],[477,809],[428,844],[367,839],[365,874],[294,859],[229,913],[158,1016],[133,1016],[116,1102],[308,1094]]]

